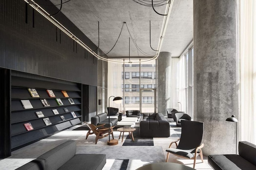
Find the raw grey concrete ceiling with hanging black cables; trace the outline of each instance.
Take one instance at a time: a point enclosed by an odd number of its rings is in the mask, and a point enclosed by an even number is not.
[[[60,4],[60,0],[50,1],[55,5]],[[165,8],[166,5],[155,7],[161,14],[164,14]],[[99,21],[99,48],[104,53],[108,53],[114,46],[123,22],[126,22],[138,47],[149,55],[156,54],[156,51],[150,48],[149,22],[151,21],[151,45],[153,49],[157,49],[164,16],[156,14],[152,7],[142,6],[133,0],[71,0],[62,5],[61,12],[96,46]],[[174,0],[161,52],[170,52],[172,57],[179,57],[192,39],[193,0]],[[108,53],[108,57],[128,56],[129,33],[124,25],[122,34],[114,49]],[[130,56],[146,57],[136,49],[132,40]]]

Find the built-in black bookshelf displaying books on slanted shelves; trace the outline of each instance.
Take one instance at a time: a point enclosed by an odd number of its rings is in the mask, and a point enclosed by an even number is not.
[[[79,85],[12,76],[12,150],[81,123],[81,100]]]

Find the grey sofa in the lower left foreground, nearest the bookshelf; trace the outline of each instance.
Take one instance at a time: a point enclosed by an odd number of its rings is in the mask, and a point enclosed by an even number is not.
[[[101,170],[105,154],[76,154],[76,142],[66,141],[17,170]]]

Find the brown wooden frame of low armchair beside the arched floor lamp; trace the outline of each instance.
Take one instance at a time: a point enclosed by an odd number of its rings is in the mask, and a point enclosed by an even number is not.
[[[84,122],[84,123],[86,123],[86,122]],[[114,139],[114,135],[113,135],[113,128],[114,128],[114,126],[110,127],[110,132],[107,132],[106,134],[100,136],[102,131],[106,131],[106,130],[109,129],[108,127],[107,128],[103,128],[103,126],[106,125],[106,123],[102,124],[102,125],[97,125],[97,126],[95,126],[93,124],[90,124],[90,123],[86,123],[86,125],[90,128],[90,130],[86,134],[86,139],[88,138],[89,135],[95,134],[96,135],[95,144],[97,144],[98,139],[102,139],[102,138],[104,138],[104,137],[106,137],[106,136],[108,136],[110,134],[112,135],[112,138]],[[98,127],[101,127],[101,128],[98,129]]]

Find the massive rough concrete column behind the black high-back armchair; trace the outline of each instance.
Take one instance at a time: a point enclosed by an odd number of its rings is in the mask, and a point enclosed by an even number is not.
[[[235,154],[238,117],[237,0],[194,0],[194,120],[203,154]]]

